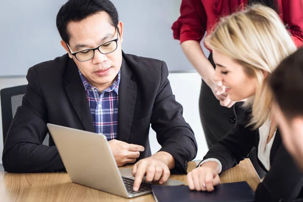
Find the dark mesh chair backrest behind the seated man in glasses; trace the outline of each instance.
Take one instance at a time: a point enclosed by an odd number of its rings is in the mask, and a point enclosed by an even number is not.
[[[22,105],[22,98],[25,94],[26,85],[20,85],[10,88],[4,88],[0,91],[1,111],[2,111],[2,128],[3,142],[5,142],[12,120],[19,106]],[[49,135],[45,136],[44,145],[49,144]]]

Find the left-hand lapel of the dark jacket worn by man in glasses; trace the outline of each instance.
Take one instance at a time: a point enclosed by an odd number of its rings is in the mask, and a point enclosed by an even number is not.
[[[82,84],[78,67],[71,59],[69,59],[67,63],[64,85],[66,93],[84,129],[86,131],[95,132],[85,88]]]

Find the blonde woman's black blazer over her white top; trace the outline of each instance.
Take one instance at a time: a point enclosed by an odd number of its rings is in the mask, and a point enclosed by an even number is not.
[[[218,159],[222,164],[221,173],[247,158],[254,147],[257,148],[252,152],[258,154],[259,129],[253,130],[251,127],[246,127],[250,116],[249,111],[241,116],[242,118],[237,120],[233,130],[221,138],[204,157],[204,160]],[[258,163],[268,172],[259,159]],[[285,150],[279,130],[276,132],[270,151],[270,164],[270,171],[257,187],[256,200],[292,201],[292,199],[303,197],[303,175]]]

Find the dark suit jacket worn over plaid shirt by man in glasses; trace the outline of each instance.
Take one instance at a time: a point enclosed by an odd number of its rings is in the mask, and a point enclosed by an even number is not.
[[[149,157],[149,126],[157,133],[161,151],[175,159],[172,173],[186,173],[196,156],[193,131],[184,121],[183,108],[172,94],[163,61],[122,53],[119,85],[118,140],[139,144]],[[74,61],[64,55],[31,67],[22,106],[12,121],[3,151],[9,172],[65,170],[54,140],[42,145],[46,123],[94,132],[86,92]]]

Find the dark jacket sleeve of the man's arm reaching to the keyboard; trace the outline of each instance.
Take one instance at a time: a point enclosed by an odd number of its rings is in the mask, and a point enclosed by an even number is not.
[[[182,106],[176,102],[168,80],[168,69],[162,62],[161,84],[155,99],[151,127],[157,133],[157,140],[175,159],[172,174],[184,174],[187,163],[195,158],[197,143],[190,126],[185,122]]]

